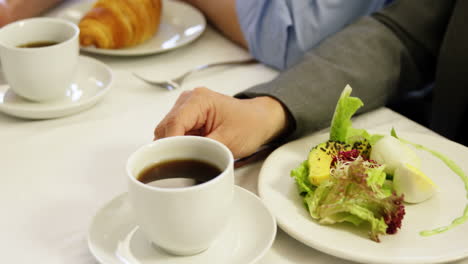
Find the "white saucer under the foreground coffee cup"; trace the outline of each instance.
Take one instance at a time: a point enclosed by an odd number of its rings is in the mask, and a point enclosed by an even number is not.
[[[110,201],[91,223],[88,246],[101,263],[249,264],[266,253],[276,236],[272,214],[257,196],[236,186],[232,218],[214,244],[198,255],[170,255],[145,238],[132,218],[126,197],[122,194]],[[190,221],[189,215],[187,221]]]

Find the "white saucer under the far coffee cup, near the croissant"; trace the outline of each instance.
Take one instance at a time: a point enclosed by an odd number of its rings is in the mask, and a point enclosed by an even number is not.
[[[112,72],[104,63],[80,56],[75,76],[63,99],[38,103],[16,95],[8,85],[0,86],[0,111],[21,118],[47,119],[86,110],[110,89]]]

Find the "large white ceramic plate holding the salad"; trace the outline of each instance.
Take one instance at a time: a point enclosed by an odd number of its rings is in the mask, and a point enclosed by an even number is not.
[[[453,159],[468,172],[468,148],[443,138],[400,133]],[[351,225],[320,225],[313,221],[297,193],[290,171],[307,158],[309,150],[328,139],[312,135],[275,150],[265,161],[259,176],[261,199],[276,217],[278,225],[302,243],[330,255],[366,263],[441,263],[468,256],[468,222],[429,237],[420,231],[445,226],[463,214],[467,194],[462,180],[439,159],[417,151],[422,170],[439,186],[430,200],[406,206],[402,229],[395,235],[370,240],[364,230]]]

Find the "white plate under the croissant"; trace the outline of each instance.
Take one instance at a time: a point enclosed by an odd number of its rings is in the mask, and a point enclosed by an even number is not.
[[[93,3],[94,1],[77,2],[55,16],[78,24],[86,12],[91,9]],[[200,11],[183,2],[163,0],[161,24],[153,38],[140,45],[124,49],[81,47],[81,50],[114,56],[155,54],[182,47],[194,41],[205,28],[206,20]]]

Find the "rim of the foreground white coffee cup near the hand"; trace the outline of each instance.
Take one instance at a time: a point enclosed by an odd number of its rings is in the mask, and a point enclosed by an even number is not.
[[[206,141],[206,142],[210,142],[210,143],[213,143],[213,144],[217,145],[218,147],[222,148],[229,155],[228,164],[221,171],[221,173],[218,176],[214,177],[213,179],[211,179],[211,180],[209,180],[207,182],[201,183],[201,184],[197,184],[197,185],[193,185],[193,186],[187,186],[187,187],[158,187],[158,186],[151,186],[151,185],[140,182],[138,179],[136,179],[136,177],[134,177],[134,174],[131,171],[132,168],[130,167],[130,165],[133,163],[134,159],[136,158],[135,156],[136,156],[137,153],[141,152],[145,148],[151,148],[154,145],[159,144],[161,141],[179,140],[181,138],[184,138],[184,139],[187,139],[187,140],[189,140],[189,139],[201,140],[201,141]],[[170,193],[186,192],[188,190],[197,190],[197,189],[201,189],[201,188],[206,188],[206,186],[216,184],[216,182],[220,181],[225,174],[230,173],[229,170],[231,170],[231,169],[232,170],[234,169],[234,156],[233,156],[231,150],[229,150],[229,148],[226,147],[226,145],[222,144],[221,142],[219,142],[217,140],[207,138],[207,137],[201,137],[201,136],[173,136],[173,137],[157,139],[157,140],[155,140],[155,141],[153,141],[153,142],[151,142],[149,144],[146,144],[146,145],[143,145],[143,146],[139,147],[136,151],[134,151],[130,155],[130,157],[127,159],[127,164],[126,164],[127,177],[130,178],[130,181],[132,181],[134,184],[137,184],[138,186],[143,187],[143,188],[148,189],[148,190],[156,190],[156,191],[159,191],[159,192],[170,192]]]

